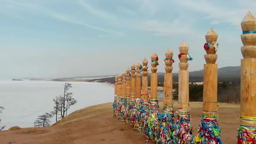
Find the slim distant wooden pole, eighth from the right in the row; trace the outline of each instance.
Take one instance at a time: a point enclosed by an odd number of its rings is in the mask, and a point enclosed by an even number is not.
[[[136,66],[135,64],[131,65],[131,108],[129,111],[129,115],[130,115],[130,121],[131,121],[131,125],[134,126],[134,121],[135,121],[135,114],[136,114],[136,109],[135,109],[135,72],[136,72]]]

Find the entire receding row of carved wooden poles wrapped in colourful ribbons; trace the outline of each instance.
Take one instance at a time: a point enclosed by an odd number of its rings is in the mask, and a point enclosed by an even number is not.
[[[256,144],[256,19],[247,13],[241,26],[243,47],[241,51],[241,122],[237,144]],[[114,117],[138,129],[138,135],[145,135],[146,142],[157,144],[222,144],[218,125],[217,105],[217,50],[218,34],[211,28],[205,36],[203,77],[203,114],[197,135],[192,136],[189,106],[189,46],[183,40],[179,46],[178,108],[174,120],[174,100],[172,95],[174,62],[171,49],[165,53],[164,107],[159,112],[158,105],[158,56],[151,56],[151,88],[148,93],[148,60],[143,65],[133,64],[121,75],[115,77]],[[142,85],[141,85],[142,72]],[[136,73],[136,74],[135,74]]]

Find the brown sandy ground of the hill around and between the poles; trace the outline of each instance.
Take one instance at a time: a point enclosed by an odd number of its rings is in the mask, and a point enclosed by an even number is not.
[[[162,98],[159,99],[163,101]],[[174,110],[177,110],[175,102]],[[163,102],[160,102],[162,107]],[[193,134],[197,134],[202,103],[191,102]],[[240,105],[220,103],[220,129],[223,144],[236,144]],[[131,126],[113,118],[112,103],[75,111],[53,126],[0,131],[0,144],[144,144]],[[152,144],[152,143],[150,143]]]

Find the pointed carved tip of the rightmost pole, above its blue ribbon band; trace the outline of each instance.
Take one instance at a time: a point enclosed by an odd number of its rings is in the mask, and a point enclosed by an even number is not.
[[[253,14],[249,11],[241,22],[243,32],[249,30],[256,30],[256,19]]]

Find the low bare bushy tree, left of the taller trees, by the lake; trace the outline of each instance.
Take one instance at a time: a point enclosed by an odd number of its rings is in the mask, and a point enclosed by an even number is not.
[[[48,127],[50,126],[49,118],[52,118],[53,115],[45,113],[44,115],[39,115],[36,121],[34,122],[34,127]]]

